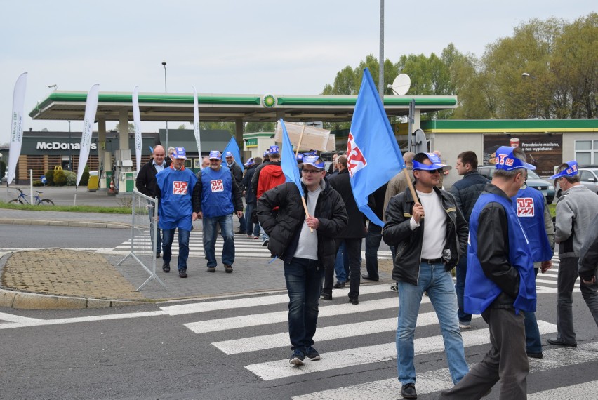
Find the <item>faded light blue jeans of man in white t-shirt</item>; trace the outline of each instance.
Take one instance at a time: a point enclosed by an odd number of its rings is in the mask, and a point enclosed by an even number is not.
[[[416,368],[413,366],[413,336],[425,291],[436,310],[449,371],[453,383],[457,384],[470,368],[465,361],[463,338],[459,331],[455,286],[451,272],[446,272],[442,263],[422,262],[417,286],[399,281],[399,325],[397,327],[399,380],[403,385],[416,382]]]

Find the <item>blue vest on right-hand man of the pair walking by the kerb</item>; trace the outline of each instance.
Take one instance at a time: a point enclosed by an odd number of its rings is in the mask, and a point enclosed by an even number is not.
[[[234,212],[232,203],[232,174],[222,167],[201,170],[201,211],[205,218],[222,217]]]

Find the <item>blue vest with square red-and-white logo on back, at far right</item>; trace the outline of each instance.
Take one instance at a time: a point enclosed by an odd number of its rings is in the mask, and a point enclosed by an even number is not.
[[[528,186],[525,189],[519,189],[512,201],[519,222],[529,239],[533,262],[552,259],[554,251],[550,247],[544,227],[544,195]]]

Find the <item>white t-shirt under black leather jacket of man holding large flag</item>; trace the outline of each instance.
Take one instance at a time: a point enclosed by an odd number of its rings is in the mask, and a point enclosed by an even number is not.
[[[436,192],[416,191],[425,213],[425,229],[422,241],[422,258],[433,260],[442,257],[446,245],[446,211],[442,208],[440,196]],[[411,229],[419,225],[411,217]]]

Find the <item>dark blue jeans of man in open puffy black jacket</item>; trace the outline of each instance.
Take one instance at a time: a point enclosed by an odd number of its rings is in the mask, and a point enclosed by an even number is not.
[[[324,269],[318,260],[295,258],[284,263],[284,280],[288,291],[288,335],[291,349],[314,344],[318,321],[318,302],[324,280]]]

